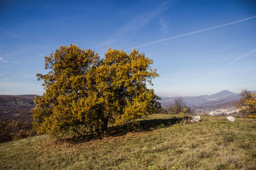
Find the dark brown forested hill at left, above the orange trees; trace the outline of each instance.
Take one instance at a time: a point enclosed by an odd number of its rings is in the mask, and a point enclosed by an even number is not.
[[[0,120],[31,121],[36,95],[0,95]]]

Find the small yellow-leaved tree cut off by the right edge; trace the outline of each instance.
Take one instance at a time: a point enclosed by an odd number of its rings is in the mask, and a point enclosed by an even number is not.
[[[237,108],[244,117],[256,118],[256,94],[248,90],[242,90],[241,96]]]

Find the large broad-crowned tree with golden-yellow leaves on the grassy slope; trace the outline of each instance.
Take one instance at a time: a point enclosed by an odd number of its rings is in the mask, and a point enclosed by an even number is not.
[[[60,46],[45,57],[47,74],[37,74],[45,92],[32,110],[40,134],[106,134],[113,125],[133,122],[159,109],[147,89],[158,76],[144,53],[109,48],[105,57],[75,46]]]

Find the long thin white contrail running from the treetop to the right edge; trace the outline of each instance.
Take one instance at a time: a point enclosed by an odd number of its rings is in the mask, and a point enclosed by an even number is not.
[[[214,26],[214,27],[209,27],[209,28],[206,28],[206,29],[200,29],[198,31],[193,31],[193,32],[188,32],[188,33],[185,33],[185,34],[180,34],[179,36],[173,36],[173,37],[170,37],[170,38],[164,38],[164,39],[160,39],[160,40],[157,40],[157,41],[152,41],[150,43],[145,43],[143,45],[139,45],[139,46],[134,46],[132,48],[128,48],[126,50],[132,50],[133,48],[140,48],[142,46],[147,46],[147,45],[152,45],[152,44],[156,44],[156,43],[161,43],[163,41],[168,41],[168,40],[171,40],[171,39],[176,39],[176,38],[180,38],[182,36],[189,36],[191,34],[196,34],[196,33],[199,33],[199,32],[204,32],[204,31],[209,31],[211,29],[217,29],[217,28],[220,28],[220,27],[225,27],[227,25],[232,25],[232,24],[236,24],[236,23],[239,23],[239,22],[243,22],[243,21],[246,21],[246,20],[252,20],[253,18],[256,18],[256,16],[253,16],[253,17],[249,17],[249,18],[244,18],[243,20],[237,20],[237,21],[234,21],[234,22],[229,22],[227,24],[223,24],[223,25],[218,25],[218,26]],[[125,51],[126,51],[125,50]]]

